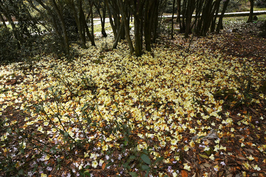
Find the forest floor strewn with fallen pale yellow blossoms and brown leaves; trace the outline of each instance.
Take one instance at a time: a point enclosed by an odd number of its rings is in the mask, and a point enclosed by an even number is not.
[[[1,65],[0,176],[265,177],[258,18],[226,18],[190,51],[166,25],[140,58],[96,35],[97,47],[71,46],[72,60]]]

